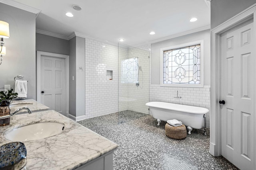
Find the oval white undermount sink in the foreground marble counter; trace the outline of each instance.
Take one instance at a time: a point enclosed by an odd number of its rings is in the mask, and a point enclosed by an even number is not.
[[[40,122],[14,128],[5,134],[9,141],[33,141],[61,133],[65,125],[58,122]]]

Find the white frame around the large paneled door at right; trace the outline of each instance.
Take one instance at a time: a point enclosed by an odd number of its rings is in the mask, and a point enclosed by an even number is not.
[[[221,33],[232,29],[244,23],[250,19],[253,19],[253,37],[255,43],[256,39],[256,4],[250,6],[246,10],[240,12],[236,16],[230,18],[224,23],[218,25],[211,30],[211,89],[210,89],[210,154],[213,156],[221,155],[221,116],[220,106],[218,101],[221,99]],[[255,57],[256,50],[253,51]],[[256,63],[254,63],[256,66]],[[256,72],[256,71],[255,71]],[[256,75],[256,74],[255,74]],[[254,78],[256,79],[256,78]],[[254,98],[256,96],[256,82],[254,81]],[[254,106],[254,132],[256,131],[256,107]],[[253,136],[254,142],[256,141],[256,135]],[[253,148],[254,167],[256,163],[256,152],[255,147]]]

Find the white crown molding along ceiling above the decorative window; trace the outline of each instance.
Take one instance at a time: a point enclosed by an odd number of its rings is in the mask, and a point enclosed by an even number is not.
[[[139,46],[142,46],[142,45],[153,44],[153,43],[157,43],[157,42],[160,42],[160,41],[164,41],[164,40],[172,39],[172,38],[176,38],[176,37],[181,37],[183,35],[188,35],[188,34],[196,33],[196,32],[199,32],[199,31],[204,31],[204,30],[207,30],[207,29],[210,29],[210,28],[211,28],[210,25],[206,25],[204,27],[200,27],[200,28],[196,28],[196,29],[191,29],[189,31],[185,31],[185,32],[182,32],[182,33],[177,33],[177,34],[169,35],[167,37],[155,39],[155,40],[152,40],[152,41],[147,41],[145,43],[136,45],[135,47],[139,47]]]

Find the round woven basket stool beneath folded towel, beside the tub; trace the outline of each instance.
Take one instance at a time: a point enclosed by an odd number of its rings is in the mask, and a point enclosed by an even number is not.
[[[172,139],[185,139],[187,137],[186,126],[171,126],[168,123],[165,124],[165,135]]]

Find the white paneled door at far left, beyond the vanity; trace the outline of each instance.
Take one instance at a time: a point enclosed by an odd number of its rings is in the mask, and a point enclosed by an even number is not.
[[[41,103],[65,115],[65,59],[44,55],[40,58]]]

